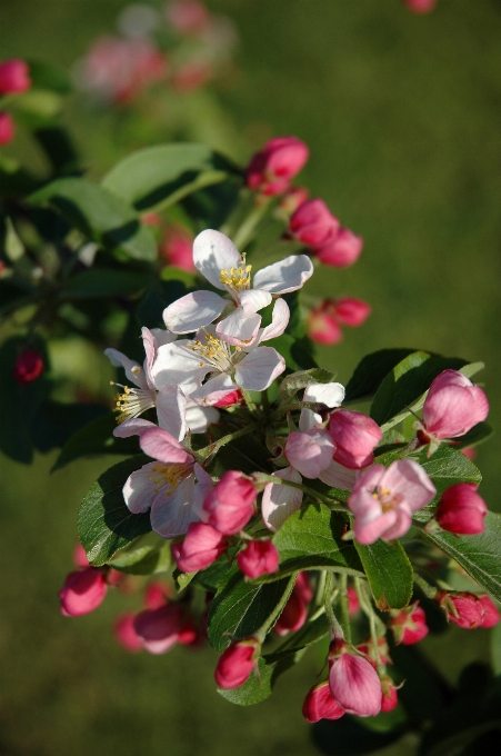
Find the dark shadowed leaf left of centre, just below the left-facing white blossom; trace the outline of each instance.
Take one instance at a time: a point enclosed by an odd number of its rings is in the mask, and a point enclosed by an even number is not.
[[[52,467],[52,472],[60,470],[80,457],[101,454],[137,454],[138,439],[132,437],[116,438],[113,436],[116,427],[116,416],[112,412],[107,412],[80,428],[62,447],[61,454]]]

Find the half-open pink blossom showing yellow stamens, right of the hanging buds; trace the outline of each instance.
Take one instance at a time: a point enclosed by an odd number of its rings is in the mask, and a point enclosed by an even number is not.
[[[425,507],[435,494],[424,469],[412,459],[397,459],[388,468],[373,465],[348,499],[357,540],[369,545],[378,538],[400,538],[411,527],[413,510]]]

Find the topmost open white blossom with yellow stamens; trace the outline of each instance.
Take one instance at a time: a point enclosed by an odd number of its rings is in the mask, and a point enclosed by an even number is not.
[[[207,280],[214,288],[227,291],[231,299],[213,291],[188,294],[164,309],[167,328],[174,334],[191,334],[230,308],[232,311],[218,324],[216,332],[240,347],[258,340],[261,325],[258,310],[270,305],[273,296],[300,289],[313,273],[313,265],[307,255],[291,255],[257,272],[251,288],[252,266],[247,263],[246,255],[241,255],[223,233],[211,229],[196,238],[193,261]],[[285,302],[283,305],[289,309]]]

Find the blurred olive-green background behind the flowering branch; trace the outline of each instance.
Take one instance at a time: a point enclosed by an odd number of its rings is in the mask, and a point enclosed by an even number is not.
[[[126,4],[1,0],[0,59],[70,66],[96,36],[113,30]],[[479,380],[499,428],[500,0],[439,0],[425,17],[400,0],[207,4],[230,16],[240,33],[240,76],[220,94],[233,123],[255,147],[285,133],[308,142],[301,183],[365,240],[358,265],[322,269],[310,284],[312,294],[354,296],[373,307],[362,328],[321,350],[321,364],[344,381],[364,354],[384,347],[484,360]],[[77,103],[69,102],[66,120],[99,175],[108,167],[103,140]],[[207,135],[221,146],[220,136]],[[243,161],[251,151],[244,143],[228,141]],[[500,438],[478,455],[481,494],[497,510]],[[49,476],[52,462],[40,457],[26,468],[0,459],[0,753],[317,753],[300,715],[321,667],[314,654],[279,682],[271,699],[244,709],[216,693],[210,650],[122,651],[110,629],[127,604],[122,597],[112,594],[80,619],[59,615],[57,591],[71,566],[78,506],[110,460]],[[483,630],[458,630],[423,647],[455,679],[461,664],[489,657],[488,638]],[[412,754],[413,744],[380,753]]]

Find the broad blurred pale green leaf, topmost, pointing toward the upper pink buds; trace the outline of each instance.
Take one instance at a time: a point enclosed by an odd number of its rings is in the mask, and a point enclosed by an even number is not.
[[[178,202],[188,193],[223,181],[233,166],[206,145],[158,145],[129,155],[102,186],[146,212]]]

